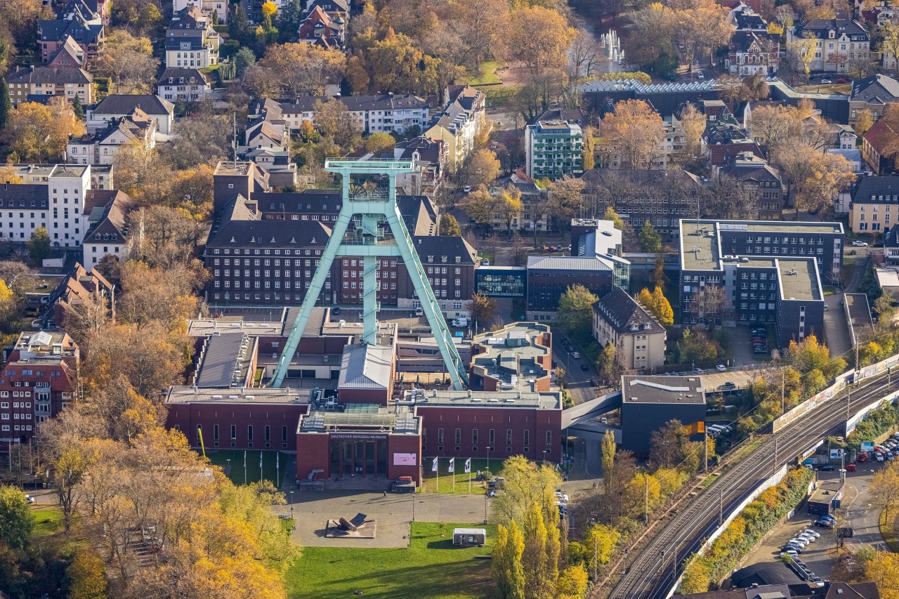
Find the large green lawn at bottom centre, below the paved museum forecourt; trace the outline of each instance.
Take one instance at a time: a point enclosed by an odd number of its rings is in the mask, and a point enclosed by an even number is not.
[[[457,549],[452,530],[457,527],[487,529],[487,546]],[[287,572],[291,599],[343,599],[359,591],[365,597],[384,599],[490,598],[495,596],[489,555],[496,527],[483,524],[413,523],[408,549],[355,549],[307,547],[298,564]]]

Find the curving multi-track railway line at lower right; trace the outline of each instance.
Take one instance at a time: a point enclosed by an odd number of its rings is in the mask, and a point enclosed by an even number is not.
[[[799,417],[762,443],[745,459],[725,470],[715,482],[684,506],[630,560],[628,570],[610,593],[610,599],[664,599],[681,573],[681,562],[699,550],[715,531],[720,514],[727,514],[761,481],[812,443],[830,434],[842,434],[846,416],[895,389],[896,381],[884,373]]]

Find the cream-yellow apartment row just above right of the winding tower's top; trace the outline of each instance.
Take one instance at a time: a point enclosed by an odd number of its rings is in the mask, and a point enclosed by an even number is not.
[[[485,100],[485,94],[469,85],[449,85],[443,91],[445,108],[431,128],[424,131],[424,137],[447,144],[450,168],[465,162],[475,147],[477,133],[486,126]]]

